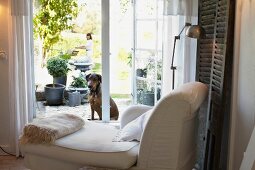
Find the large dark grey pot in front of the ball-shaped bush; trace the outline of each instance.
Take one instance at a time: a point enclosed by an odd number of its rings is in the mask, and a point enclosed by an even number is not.
[[[63,104],[65,87],[66,86],[62,84],[55,84],[55,87],[53,87],[53,84],[47,84],[44,87],[44,95],[47,104],[50,106]]]

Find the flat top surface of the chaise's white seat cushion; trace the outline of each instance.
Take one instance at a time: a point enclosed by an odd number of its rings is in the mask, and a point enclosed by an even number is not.
[[[56,140],[55,145],[91,152],[120,152],[138,144],[138,142],[112,142],[117,133],[118,129],[109,124],[86,121],[81,130]]]

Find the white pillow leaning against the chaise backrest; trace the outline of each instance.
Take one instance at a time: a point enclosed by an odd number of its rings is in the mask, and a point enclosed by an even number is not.
[[[152,113],[152,109],[143,113],[133,121],[129,122],[123,129],[119,130],[114,137],[114,142],[121,141],[140,141],[143,130],[148,122],[148,119]]]

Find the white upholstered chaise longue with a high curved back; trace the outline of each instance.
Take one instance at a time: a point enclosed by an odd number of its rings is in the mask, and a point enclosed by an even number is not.
[[[53,145],[22,145],[25,164],[32,170],[76,170],[84,166],[191,170],[196,156],[197,110],[207,91],[206,85],[192,82],[163,97],[152,108],[140,142],[112,142],[118,129],[88,121],[81,130]],[[121,128],[149,109],[129,107],[121,116]]]

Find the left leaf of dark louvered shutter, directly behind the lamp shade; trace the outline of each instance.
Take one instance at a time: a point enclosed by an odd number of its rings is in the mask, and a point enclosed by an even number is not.
[[[205,29],[205,38],[198,40],[197,48],[197,74],[196,79],[205,84],[210,84],[214,28],[216,18],[216,0],[200,0],[199,3],[199,25]],[[206,100],[199,110],[197,163],[202,167],[205,154],[205,132],[206,113],[208,100]]]

